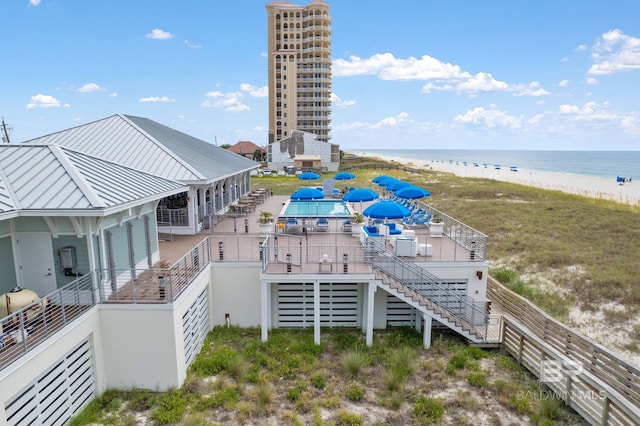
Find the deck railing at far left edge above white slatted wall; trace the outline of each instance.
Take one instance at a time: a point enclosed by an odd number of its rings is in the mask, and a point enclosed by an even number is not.
[[[33,350],[97,303],[91,275],[0,319],[0,370]]]

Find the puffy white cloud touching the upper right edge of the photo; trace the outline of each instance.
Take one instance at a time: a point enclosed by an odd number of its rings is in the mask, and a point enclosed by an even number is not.
[[[605,75],[640,69],[640,38],[619,29],[602,34],[591,50],[593,65],[589,74]]]

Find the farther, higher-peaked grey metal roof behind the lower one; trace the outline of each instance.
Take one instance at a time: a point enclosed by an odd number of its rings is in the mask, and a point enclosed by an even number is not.
[[[27,141],[53,143],[181,182],[214,181],[260,165],[147,118],[117,114]]]

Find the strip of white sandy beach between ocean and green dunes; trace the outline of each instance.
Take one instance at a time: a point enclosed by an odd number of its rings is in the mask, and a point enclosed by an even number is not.
[[[627,182],[624,185],[620,185],[613,179],[568,173],[542,172],[521,168],[518,168],[517,171],[512,171],[509,167],[502,167],[500,170],[496,170],[493,166],[483,167],[482,164],[474,166],[472,163],[467,163],[466,165],[449,162],[422,162],[416,164],[406,158],[393,156],[379,156],[379,158],[412,167],[453,173],[461,177],[494,179],[640,206],[640,183],[638,182]]]

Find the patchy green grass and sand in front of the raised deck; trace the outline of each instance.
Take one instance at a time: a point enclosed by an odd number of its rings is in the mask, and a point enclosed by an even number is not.
[[[310,329],[269,337],[216,327],[180,389],[109,390],[70,424],[499,424],[507,415],[516,423],[580,422],[564,406],[536,401],[527,392],[537,389],[535,377],[512,358],[467,347],[455,333],[434,331],[431,349],[413,328],[376,331],[372,347],[359,329],[323,329],[321,345]],[[351,356],[355,375],[336,361]],[[221,359],[242,360],[247,374]]]

